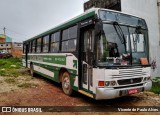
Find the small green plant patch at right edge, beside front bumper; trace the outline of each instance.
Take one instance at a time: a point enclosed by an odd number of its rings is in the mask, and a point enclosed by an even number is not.
[[[160,94],[160,77],[156,77],[152,81],[153,81],[153,85],[150,91],[156,94]]]

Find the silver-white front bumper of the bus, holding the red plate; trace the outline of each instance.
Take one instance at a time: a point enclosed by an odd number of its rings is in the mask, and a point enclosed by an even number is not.
[[[101,99],[113,99],[125,95],[130,95],[129,91],[136,89],[138,92],[132,92],[139,93],[145,90],[150,90],[152,87],[152,82],[149,81],[147,83],[144,83],[142,86],[134,86],[134,87],[127,87],[127,88],[97,88],[96,89],[96,100]]]

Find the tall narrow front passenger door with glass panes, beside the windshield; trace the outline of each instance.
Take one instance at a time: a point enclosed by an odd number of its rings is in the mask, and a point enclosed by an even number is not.
[[[92,92],[93,87],[93,46],[94,46],[94,29],[87,28],[81,33],[81,87],[82,90]]]

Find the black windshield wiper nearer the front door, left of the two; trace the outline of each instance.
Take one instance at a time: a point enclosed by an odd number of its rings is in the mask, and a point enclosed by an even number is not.
[[[124,37],[124,33],[123,33],[123,31],[122,31],[121,26],[118,24],[118,22],[113,22],[113,26],[114,26],[114,29],[115,29],[116,32],[117,32],[117,35],[118,35],[121,43],[124,44],[125,52],[127,52],[127,49],[126,49],[126,39],[125,39],[125,37]]]

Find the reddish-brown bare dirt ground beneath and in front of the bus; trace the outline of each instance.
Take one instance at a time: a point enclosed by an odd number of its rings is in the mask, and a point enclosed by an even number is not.
[[[23,76],[20,77],[23,79]],[[20,79],[19,78],[19,79]],[[93,100],[79,93],[69,97],[62,92],[61,85],[40,76],[31,80],[33,85],[29,88],[16,87],[13,84],[3,82],[0,76],[0,106],[100,106],[106,109],[114,106],[158,106],[160,107],[160,96],[151,92],[143,92],[131,96],[111,100]],[[94,108],[93,108],[94,110]],[[83,112],[83,111],[82,111]],[[55,112],[54,112],[55,113]],[[57,113],[57,112],[56,112]],[[109,112],[108,114],[113,114]],[[0,113],[1,114],[1,113]],[[3,113],[6,114],[6,113]],[[12,113],[17,115],[17,113]],[[48,113],[51,114],[51,113]],[[64,114],[58,112],[57,114]],[[105,112],[83,112],[65,114],[105,114]],[[114,114],[151,114],[149,112],[115,112]],[[158,114],[152,112],[152,114]]]

